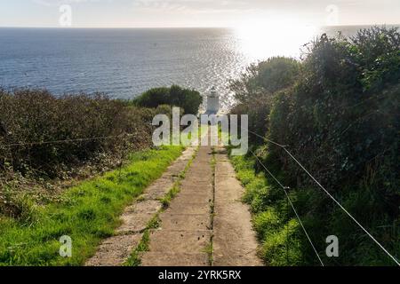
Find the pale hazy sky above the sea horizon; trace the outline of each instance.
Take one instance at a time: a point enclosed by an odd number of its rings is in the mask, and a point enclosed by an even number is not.
[[[1,0],[0,27],[60,27],[62,4],[75,28],[400,22],[400,0]]]

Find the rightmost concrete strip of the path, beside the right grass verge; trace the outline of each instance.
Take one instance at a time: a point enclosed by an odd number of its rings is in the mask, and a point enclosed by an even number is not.
[[[252,230],[251,214],[241,199],[244,188],[222,147],[215,154],[215,200],[213,220],[213,265],[262,265],[257,240]]]

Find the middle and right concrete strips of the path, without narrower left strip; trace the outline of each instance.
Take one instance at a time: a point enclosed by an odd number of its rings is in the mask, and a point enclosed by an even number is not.
[[[150,235],[142,265],[261,265],[243,193],[225,150],[213,155],[210,146],[200,146],[180,193]]]

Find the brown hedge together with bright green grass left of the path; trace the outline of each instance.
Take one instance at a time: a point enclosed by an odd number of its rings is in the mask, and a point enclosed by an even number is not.
[[[154,148],[156,114],[172,106],[0,90],[0,265],[84,264],[182,151]],[[62,235],[70,258],[59,255]]]

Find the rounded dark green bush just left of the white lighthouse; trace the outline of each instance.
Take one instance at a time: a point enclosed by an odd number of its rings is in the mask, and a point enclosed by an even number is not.
[[[198,91],[182,89],[172,85],[171,88],[150,89],[138,98],[133,99],[134,104],[144,107],[157,107],[160,105],[180,106],[185,114],[197,114],[203,98]]]

